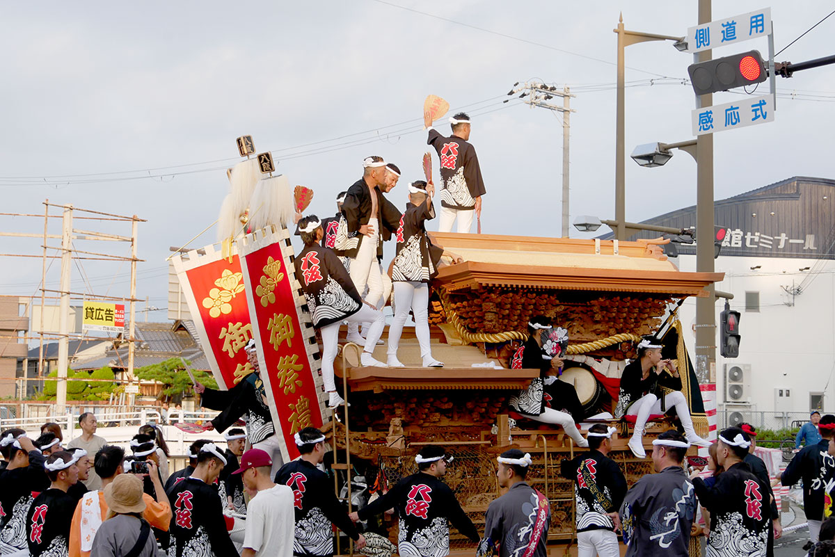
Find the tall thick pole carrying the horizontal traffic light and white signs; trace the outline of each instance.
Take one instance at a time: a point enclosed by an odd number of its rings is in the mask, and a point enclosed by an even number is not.
[[[699,0],[699,24],[711,21],[711,0]],[[711,51],[695,55],[696,63],[711,59]],[[696,108],[713,104],[713,95],[696,98]],[[696,138],[696,272],[713,273],[713,134]],[[716,439],[716,296],[713,284],[708,295],[696,299],[696,378],[705,402],[707,439]]]

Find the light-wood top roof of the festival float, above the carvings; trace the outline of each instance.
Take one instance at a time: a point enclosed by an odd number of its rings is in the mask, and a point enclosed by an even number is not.
[[[723,273],[688,273],[667,260],[663,240],[619,242],[494,234],[430,233],[464,263],[439,270],[448,291],[488,287],[602,290],[706,296]]]

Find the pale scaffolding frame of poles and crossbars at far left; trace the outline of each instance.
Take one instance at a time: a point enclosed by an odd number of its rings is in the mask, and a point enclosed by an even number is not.
[[[50,213],[50,208],[53,213]],[[55,209],[60,209],[60,214],[55,212]],[[80,215],[78,213],[81,213]],[[139,223],[146,222],[143,218],[133,216],[125,216],[114,213],[104,213],[101,211],[94,211],[92,209],[76,208],[73,205],[62,205],[49,203],[46,199],[43,202],[43,214],[37,213],[0,213],[0,217],[23,217],[23,218],[43,218],[43,234],[38,233],[23,233],[23,232],[5,232],[0,230],[0,236],[11,238],[41,238],[43,244],[41,254],[35,253],[0,253],[0,257],[9,258],[42,258],[42,276],[38,291],[40,292],[40,323],[38,326],[38,334],[36,337],[25,335],[13,335],[6,338],[6,343],[0,342],[0,346],[8,344],[13,341],[21,339],[27,342],[33,339],[38,339],[38,378],[43,378],[43,344],[44,340],[57,338],[58,339],[58,394],[56,397],[56,412],[62,414],[67,404],[67,369],[69,364],[69,339],[90,339],[89,334],[82,329],[80,333],[70,330],[70,302],[71,300],[99,300],[107,302],[128,302],[129,303],[129,324],[128,324],[128,338],[124,338],[124,333],[117,335],[120,342],[128,344],[128,379],[134,380],[134,344],[136,339],[134,337],[134,322],[136,316],[135,303],[140,300],[136,298],[136,263],[143,261],[137,257],[137,237]],[[61,233],[50,233],[49,224],[50,219],[61,219]],[[130,234],[120,235],[114,233],[105,233],[101,231],[87,230],[83,228],[73,228],[73,222],[76,221],[96,221],[99,223],[114,222],[114,223],[129,223]],[[86,225],[83,224],[83,226]],[[54,232],[54,231],[53,231]],[[50,240],[60,239],[61,245],[50,245]],[[80,241],[99,241],[99,242],[119,242],[129,243],[129,256],[106,253],[107,250],[93,251],[91,249],[78,248],[77,242]],[[58,289],[47,288],[47,272],[49,259],[61,260],[61,278]],[[75,264],[83,273],[80,261],[113,261],[113,262],[128,262],[130,264],[130,288],[129,295],[124,296],[109,296],[104,294],[94,294],[92,292],[76,292],[72,289],[72,266]],[[88,289],[89,289],[88,281]],[[26,297],[21,297],[25,299]],[[27,304],[28,313],[31,313],[33,308],[33,300],[36,296],[29,298]],[[58,316],[58,330],[50,331],[44,323],[44,314],[47,300],[59,300],[59,316]],[[30,329],[32,329],[30,324]],[[0,351],[2,354],[2,351]],[[26,369],[24,369],[24,376]]]

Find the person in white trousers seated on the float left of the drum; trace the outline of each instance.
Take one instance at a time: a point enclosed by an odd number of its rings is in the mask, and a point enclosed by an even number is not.
[[[554,408],[546,408],[544,398],[544,379],[549,374],[559,373],[563,366],[563,359],[551,357],[543,349],[543,336],[551,330],[551,319],[544,315],[538,315],[530,320],[528,324],[528,340],[514,352],[510,359],[511,369],[539,369],[539,377],[531,379],[528,389],[519,391],[509,400],[509,407],[525,417],[535,419],[545,424],[557,424],[565,433],[574,440],[578,447],[588,447],[586,441],[577,429],[576,421],[583,419],[583,416],[574,416],[566,412],[560,412]],[[574,390],[574,385],[565,384],[562,388],[565,393]],[[577,397],[574,391],[574,398]],[[579,404],[579,401],[578,403]],[[554,405],[562,407],[561,401],[554,400]]]

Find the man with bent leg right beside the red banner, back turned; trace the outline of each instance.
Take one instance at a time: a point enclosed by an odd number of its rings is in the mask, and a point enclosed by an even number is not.
[[[337,385],[333,380],[333,360],[337,358],[339,326],[343,320],[372,322],[372,329],[368,332],[362,352],[361,364],[385,368],[386,364],[374,359],[372,354],[377,340],[382,335],[386,319],[382,311],[362,301],[337,254],[319,245],[323,235],[319,218],[316,215],[302,218],[299,221],[299,230],[305,247],[293,265],[296,268],[296,278],[305,293],[313,326],[321,332],[321,379],[330,397],[328,407],[336,408],[345,402],[337,393]]]

